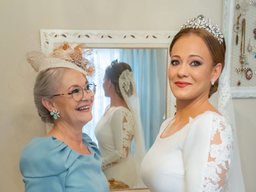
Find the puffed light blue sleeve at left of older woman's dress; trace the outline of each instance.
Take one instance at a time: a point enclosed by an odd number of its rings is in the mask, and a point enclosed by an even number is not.
[[[54,137],[34,138],[20,158],[25,191],[64,191],[66,172],[77,158],[78,153]]]

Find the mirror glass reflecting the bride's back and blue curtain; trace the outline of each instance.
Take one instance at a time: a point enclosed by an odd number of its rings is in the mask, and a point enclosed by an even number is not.
[[[165,118],[167,49],[94,48],[92,57],[104,71],[104,82],[83,131],[98,142],[108,179],[144,187],[139,172],[144,146],[152,146]],[[124,86],[118,89],[120,74]]]

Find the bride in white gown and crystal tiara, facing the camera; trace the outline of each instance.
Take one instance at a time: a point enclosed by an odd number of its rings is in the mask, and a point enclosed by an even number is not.
[[[151,192],[244,192],[236,136],[227,114],[208,101],[217,91],[225,50],[218,25],[202,15],[188,20],[172,40],[168,78],[177,110],[142,162]],[[228,87],[220,90],[227,92]]]

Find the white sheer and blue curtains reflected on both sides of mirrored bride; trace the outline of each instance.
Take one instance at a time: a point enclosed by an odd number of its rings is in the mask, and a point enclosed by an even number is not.
[[[167,50],[93,49],[93,58],[103,70],[115,59],[131,66],[140,98],[140,114],[146,150],[148,150],[154,143],[165,116]],[[94,99],[93,119],[84,126],[84,132],[88,133],[94,141],[96,141],[94,128],[109,103],[110,99],[104,96],[101,86]]]

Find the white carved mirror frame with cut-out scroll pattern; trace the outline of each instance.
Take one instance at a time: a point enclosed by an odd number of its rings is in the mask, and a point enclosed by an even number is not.
[[[170,63],[169,46],[177,31],[112,31],[112,30],[40,30],[42,52],[48,55],[54,44],[66,42],[85,43],[88,48],[162,48],[166,49],[165,118],[174,115],[175,98],[167,80]],[[160,125],[159,125],[160,126]]]

